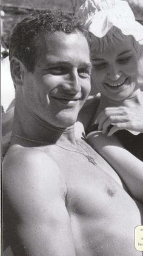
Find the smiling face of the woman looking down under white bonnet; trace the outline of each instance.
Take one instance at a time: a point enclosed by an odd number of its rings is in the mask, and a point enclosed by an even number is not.
[[[91,88],[114,101],[128,98],[137,87],[138,54],[130,38],[91,53]],[[92,93],[91,91],[91,93]]]

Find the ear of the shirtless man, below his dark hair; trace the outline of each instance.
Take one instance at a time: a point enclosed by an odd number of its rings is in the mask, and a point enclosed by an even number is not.
[[[26,68],[21,60],[18,60],[16,57],[12,57],[10,60],[10,72],[15,85],[23,85],[25,70]]]

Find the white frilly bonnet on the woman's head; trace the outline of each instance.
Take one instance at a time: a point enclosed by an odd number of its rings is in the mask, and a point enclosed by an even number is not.
[[[121,29],[124,35],[133,35],[143,44],[143,26],[135,20],[128,5],[122,0],[86,0],[77,16],[96,37],[104,37],[111,27]]]

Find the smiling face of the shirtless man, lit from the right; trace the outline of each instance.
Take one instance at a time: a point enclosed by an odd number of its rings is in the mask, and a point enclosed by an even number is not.
[[[90,93],[90,70],[88,43],[81,33],[41,35],[34,72],[25,71],[25,104],[52,126],[73,125]]]

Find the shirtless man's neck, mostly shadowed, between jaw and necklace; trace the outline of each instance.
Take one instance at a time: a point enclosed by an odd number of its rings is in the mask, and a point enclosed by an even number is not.
[[[47,144],[76,144],[74,125],[61,128],[52,126],[28,110],[15,107],[15,119],[13,135],[27,138],[33,141],[41,141]]]

